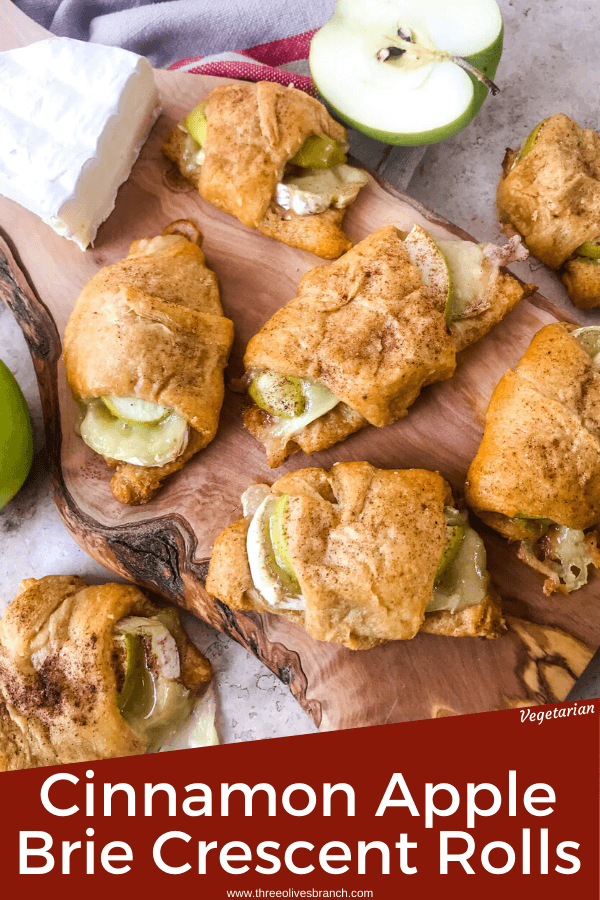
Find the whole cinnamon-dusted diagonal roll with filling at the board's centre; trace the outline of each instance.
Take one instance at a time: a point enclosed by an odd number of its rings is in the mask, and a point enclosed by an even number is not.
[[[388,225],[304,275],[244,357],[254,404],[244,421],[269,465],[405,416],[425,385],[451,377],[459,350],[535,289],[499,268],[520,255],[516,241],[434,241]]]

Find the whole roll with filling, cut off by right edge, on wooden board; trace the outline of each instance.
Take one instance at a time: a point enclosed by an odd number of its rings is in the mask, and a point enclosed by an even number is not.
[[[467,475],[477,515],[567,593],[598,565],[600,327],[546,325],[492,394]]]

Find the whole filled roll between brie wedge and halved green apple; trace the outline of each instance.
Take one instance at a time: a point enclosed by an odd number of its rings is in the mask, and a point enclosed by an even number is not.
[[[163,147],[205,200],[324,259],[352,246],[342,219],[368,181],[347,150],[322,103],[268,81],[216,87]]]

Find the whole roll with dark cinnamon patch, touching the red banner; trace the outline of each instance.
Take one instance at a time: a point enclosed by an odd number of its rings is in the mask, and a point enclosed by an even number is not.
[[[137,588],[26,579],[0,619],[0,771],[157,750],[210,677],[177,610]]]

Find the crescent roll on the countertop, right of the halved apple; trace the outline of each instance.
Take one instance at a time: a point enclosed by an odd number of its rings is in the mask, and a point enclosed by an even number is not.
[[[562,113],[540,122],[520,151],[507,151],[497,207],[576,306],[600,305],[600,135]]]

